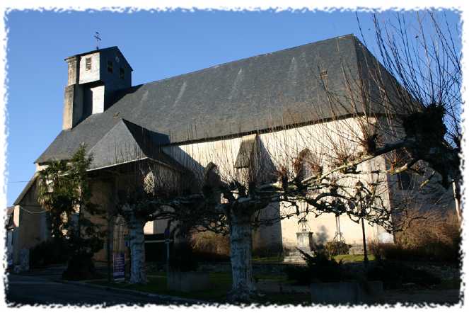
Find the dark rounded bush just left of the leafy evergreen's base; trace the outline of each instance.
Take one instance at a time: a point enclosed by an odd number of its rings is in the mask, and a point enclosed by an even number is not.
[[[52,264],[65,263],[69,259],[69,245],[64,239],[49,239],[30,249],[30,267],[40,268]]]

